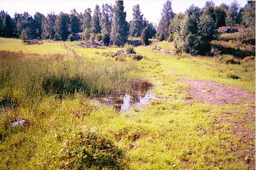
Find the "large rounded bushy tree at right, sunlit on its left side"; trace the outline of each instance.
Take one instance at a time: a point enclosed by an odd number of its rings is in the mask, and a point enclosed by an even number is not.
[[[209,15],[203,13],[199,20],[194,15],[186,15],[181,20],[180,30],[174,33],[175,51],[204,55],[211,51],[210,42],[216,38],[216,23]]]

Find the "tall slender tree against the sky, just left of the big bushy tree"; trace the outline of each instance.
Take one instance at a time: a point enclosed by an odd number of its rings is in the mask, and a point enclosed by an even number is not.
[[[164,39],[167,39],[169,37],[169,25],[171,20],[175,17],[175,13],[172,12],[171,1],[167,1],[164,4],[161,16],[157,32],[162,33]]]

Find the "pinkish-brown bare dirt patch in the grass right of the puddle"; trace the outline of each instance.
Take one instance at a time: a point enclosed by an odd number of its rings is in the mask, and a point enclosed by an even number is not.
[[[253,104],[255,95],[237,87],[204,80],[182,80],[189,84],[188,95],[208,104]]]

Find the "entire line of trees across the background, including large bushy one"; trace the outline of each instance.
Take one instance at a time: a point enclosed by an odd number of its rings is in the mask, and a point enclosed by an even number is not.
[[[244,7],[234,1],[216,6],[207,1],[201,9],[191,5],[184,13],[174,13],[171,1],[165,2],[158,25],[153,25],[141,13],[140,6],[133,6],[133,19],[126,20],[123,1],[115,4],[95,6],[92,13],[87,8],[83,13],[73,9],[69,14],[60,12],[44,16],[36,12],[15,13],[11,18],[7,12],[0,12],[0,36],[21,37],[23,39],[89,40],[95,35],[106,42],[122,46],[127,37],[141,37],[145,45],[148,38],[174,41],[177,52],[197,54],[209,51],[210,41],[217,38],[216,29],[222,26],[244,25],[247,30],[242,35],[255,41],[255,2],[248,1]],[[99,36],[100,34],[100,36]]]

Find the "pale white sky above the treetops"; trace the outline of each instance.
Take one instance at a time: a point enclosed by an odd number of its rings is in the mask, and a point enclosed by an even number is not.
[[[175,13],[184,12],[190,5],[194,4],[200,8],[203,8],[205,5],[204,0],[173,0],[172,1],[172,10]],[[215,5],[222,3],[230,4],[233,0],[216,0],[213,1]],[[240,6],[244,6],[247,1],[239,0],[237,1]],[[36,12],[47,13],[55,12],[59,13],[60,11],[70,13],[70,11],[75,8],[78,12],[84,12],[85,9],[91,8],[92,15],[95,8],[95,5],[98,4],[100,7],[103,3],[114,4],[115,1],[86,1],[86,0],[74,0],[74,1],[61,1],[61,0],[0,0],[0,10],[7,11],[11,17],[14,16],[15,12],[24,13],[29,12],[30,15],[34,15]],[[126,20],[133,19],[133,6],[135,4],[140,5],[141,12],[144,17],[147,18],[150,22],[158,24],[161,19],[161,11],[165,1],[152,1],[152,0],[127,0],[124,1],[124,11],[127,13]]]

